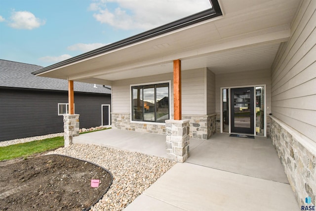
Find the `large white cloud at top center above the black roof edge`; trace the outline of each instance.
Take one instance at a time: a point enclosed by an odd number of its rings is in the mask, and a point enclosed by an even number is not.
[[[112,3],[112,4],[111,4]],[[111,9],[117,3],[115,9]],[[211,7],[209,0],[94,0],[93,17],[119,29],[148,30]]]

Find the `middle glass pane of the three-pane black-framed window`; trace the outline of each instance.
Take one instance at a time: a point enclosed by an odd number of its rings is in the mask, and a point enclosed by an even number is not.
[[[144,120],[155,121],[155,85],[144,86]]]

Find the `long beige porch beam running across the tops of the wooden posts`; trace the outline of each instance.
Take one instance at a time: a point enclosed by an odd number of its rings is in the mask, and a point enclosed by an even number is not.
[[[281,26],[279,28],[272,28],[256,33],[249,33],[247,35],[236,36],[230,39],[224,39],[221,41],[204,42],[202,44],[195,44],[193,46],[178,47],[177,49],[170,49],[170,51],[164,51],[163,53],[156,53],[151,56],[149,52],[143,56],[139,56],[135,59],[125,60],[125,62],[119,63],[119,65],[104,64],[100,69],[90,70],[89,72],[83,72],[74,74],[69,77],[70,80],[81,80],[89,77],[99,77],[106,75],[113,75],[119,72],[138,71],[142,68],[148,68],[150,66],[159,66],[167,64],[173,61],[175,58],[182,60],[189,59],[198,56],[207,56],[215,52],[232,50],[234,48],[264,45],[268,43],[279,43],[287,41],[289,37],[288,26]],[[141,58],[141,59],[139,59]],[[84,69],[84,67],[81,67]],[[183,70],[186,69],[183,67]],[[170,70],[172,71],[172,69]],[[167,72],[170,72],[167,71]],[[163,72],[163,71],[162,71]],[[159,72],[159,73],[162,73]],[[154,75],[154,74],[153,74]],[[125,75],[126,77],[127,75]],[[104,78],[104,77],[103,77]],[[110,80],[110,79],[109,79]],[[114,78],[112,80],[115,80]]]

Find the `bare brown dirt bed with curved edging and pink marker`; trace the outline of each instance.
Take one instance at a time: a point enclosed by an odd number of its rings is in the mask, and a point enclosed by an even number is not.
[[[101,167],[61,155],[3,161],[0,172],[0,211],[82,211],[113,180]],[[92,188],[91,179],[99,179],[99,187]]]

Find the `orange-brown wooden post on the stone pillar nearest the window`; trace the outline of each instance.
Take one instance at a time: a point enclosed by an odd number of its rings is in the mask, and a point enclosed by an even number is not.
[[[174,120],[181,120],[181,60],[173,61],[173,113]]]

